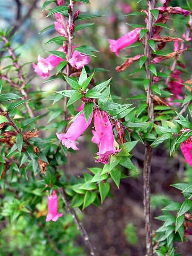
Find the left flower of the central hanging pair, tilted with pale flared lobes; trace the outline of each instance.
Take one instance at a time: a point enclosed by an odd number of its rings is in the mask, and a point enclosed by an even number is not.
[[[81,134],[87,129],[90,125],[90,122],[93,118],[93,113],[90,116],[89,122],[87,123],[84,118],[84,113],[81,113],[75,121],[70,125],[70,128],[67,130],[65,134],[58,134],[57,137],[61,140],[62,144],[66,146],[66,148],[73,148],[74,150],[79,150],[76,146],[76,140],[81,136]]]

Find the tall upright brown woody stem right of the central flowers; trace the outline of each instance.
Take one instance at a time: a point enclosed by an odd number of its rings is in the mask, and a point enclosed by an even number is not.
[[[148,65],[151,64],[151,49],[148,45],[148,40],[151,39],[151,32],[153,26],[153,15],[150,10],[154,9],[156,0],[148,1],[148,21],[147,29],[148,33],[145,36],[145,56],[147,56],[147,61],[145,62],[146,78],[149,79],[149,84],[147,87],[147,104],[148,104],[148,118],[149,122],[154,122],[154,105],[152,98],[152,76]],[[144,205],[144,215],[145,215],[145,239],[146,239],[146,255],[153,255],[152,247],[152,231],[151,231],[151,205],[150,205],[150,172],[151,172],[151,158],[152,158],[152,148],[151,145],[145,144],[145,160],[143,164],[143,205]]]

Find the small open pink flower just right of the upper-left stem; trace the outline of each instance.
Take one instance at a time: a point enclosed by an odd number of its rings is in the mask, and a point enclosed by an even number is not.
[[[77,69],[80,69],[84,65],[89,64],[89,62],[90,62],[89,56],[81,52],[78,52],[77,50],[73,52],[73,55],[69,60],[69,63],[71,64],[71,66],[76,67]]]

